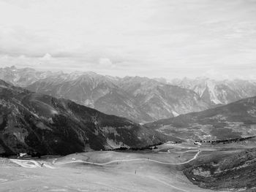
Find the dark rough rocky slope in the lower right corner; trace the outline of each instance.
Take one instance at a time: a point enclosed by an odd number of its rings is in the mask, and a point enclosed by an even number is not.
[[[183,172],[200,188],[217,191],[255,191],[256,148],[201,155]]]

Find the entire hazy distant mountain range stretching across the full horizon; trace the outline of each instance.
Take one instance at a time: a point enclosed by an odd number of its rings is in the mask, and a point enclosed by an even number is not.
[[[0,69],[0,79],[29,91],[69,99],[137,123],[199,112],[256,96],[256,81],[207,77],[111,77],[94,72],[41,72],[15,66]]]

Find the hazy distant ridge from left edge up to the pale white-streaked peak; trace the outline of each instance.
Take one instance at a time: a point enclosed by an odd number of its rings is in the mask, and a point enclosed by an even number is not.
[[[136,122],[150,122],[211,107],[195,91],[148,77],[120,78],[94,72],[37,72],[12,66],[0,69],[0,78],[30,91],[70,99]]]

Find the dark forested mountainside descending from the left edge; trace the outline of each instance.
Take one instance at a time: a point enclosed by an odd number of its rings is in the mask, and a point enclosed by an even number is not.
[[[68,154],[163,142],[126,118],[0,81],[0,153]]]

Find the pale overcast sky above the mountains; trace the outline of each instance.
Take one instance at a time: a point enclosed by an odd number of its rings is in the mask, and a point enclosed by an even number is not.
[[[0,67],[256,79],[256,0],[0,0]]]

